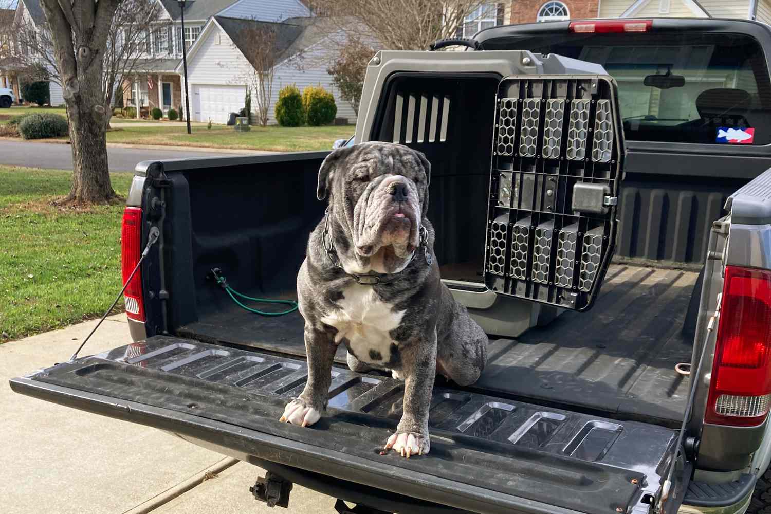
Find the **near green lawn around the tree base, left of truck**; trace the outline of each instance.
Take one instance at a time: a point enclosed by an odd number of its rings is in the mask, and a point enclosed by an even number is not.
[[[126,195],[132,175],[111,177]],[[50,206],[71,179],[0,166],[0,342],[97,317],[120,289],[123,205]]]

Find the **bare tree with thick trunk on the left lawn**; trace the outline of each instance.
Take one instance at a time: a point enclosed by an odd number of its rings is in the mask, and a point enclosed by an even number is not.
[[[66,201],[115,197],[109,180],[105,130],[116,88],[152,68],[150,32],[167,30],[160,5],[148,0],[41,0],[45,22],[17,20],[13,51],[0,67],[28,80],[62,86],[72,143],[73,181]]]

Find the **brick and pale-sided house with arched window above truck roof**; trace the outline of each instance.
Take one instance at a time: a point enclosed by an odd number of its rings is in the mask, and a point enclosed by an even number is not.
[[[771,0],[512,0],[510,23],[582,18],[740,18],[771,23]]]

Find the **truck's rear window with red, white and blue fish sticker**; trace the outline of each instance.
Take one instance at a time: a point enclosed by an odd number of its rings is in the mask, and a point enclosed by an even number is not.
[[[670,143],[771,143],[771,83],[748,35],[561,34],[485,42],[596,62],[618,82],[627,139]]]

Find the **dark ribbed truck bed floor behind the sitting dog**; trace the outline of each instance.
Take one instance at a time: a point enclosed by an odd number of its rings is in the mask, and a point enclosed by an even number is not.
[[[692,339],[682,335],[682,325],[697,277],[688,270],[615,264],[593,310],[565,312],[517,339],[491,339],[487,368],[469,390],[675,427],[688,388],[675,365],[691,361]],[[224,293],[210,312],[177,333],[305,357],[297,312],[257,316]],[[335,361],[345,366],[345,348]]]

